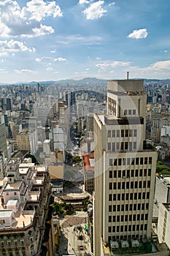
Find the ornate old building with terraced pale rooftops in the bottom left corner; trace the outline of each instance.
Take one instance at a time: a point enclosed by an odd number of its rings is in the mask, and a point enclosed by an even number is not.
[[[47,167],[18,159],[7,163],[0,178],[0,255],[41,255],[45,246],[53,255],[53,239],[45,240],[50,193]]]

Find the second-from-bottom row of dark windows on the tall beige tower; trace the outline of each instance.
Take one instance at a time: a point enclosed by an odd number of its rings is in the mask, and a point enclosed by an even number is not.
[[[148,214],[130,214],[130,215],[117,215],[109,216],[108,222],[136,222],[140,220],[147,220]]]

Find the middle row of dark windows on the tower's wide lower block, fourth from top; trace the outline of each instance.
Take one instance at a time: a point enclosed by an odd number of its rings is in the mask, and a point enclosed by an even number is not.
[[[119,187],[117,187],[119,189]],[[150,192],[135,192],[135,193],[123,193],[123,194],[109,194],[109,201],[116,200],[137,200],[137,199],[149,199]],[[123,205],[124,206],[124,205]]]

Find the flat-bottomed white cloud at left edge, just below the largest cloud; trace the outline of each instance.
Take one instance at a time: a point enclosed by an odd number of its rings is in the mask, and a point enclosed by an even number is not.
[[[9,41],[4,40],[0,41],[0,49],[1,51],[7,52],[7,51],[29,51],[34,52],[34,48],[28,48],[26,45],[24,45],[23,42],[16,41],[14,39],[11,39]],[[6,55],[6,53],[4,53]]]

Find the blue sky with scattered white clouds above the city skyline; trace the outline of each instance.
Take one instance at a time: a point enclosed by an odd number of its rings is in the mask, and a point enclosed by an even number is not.
[[[170,78],[169,0],[0,0],[0,83]]]

